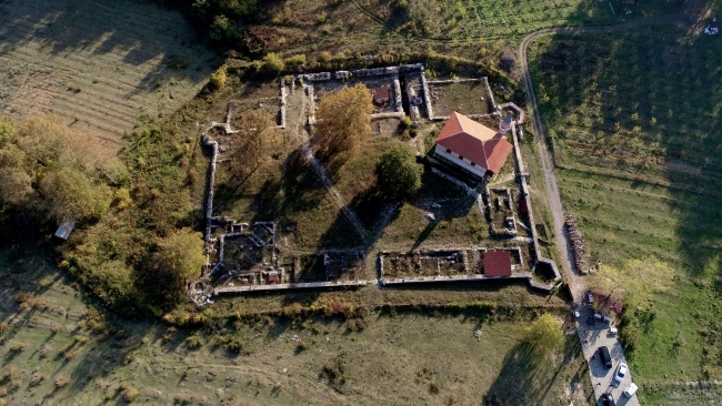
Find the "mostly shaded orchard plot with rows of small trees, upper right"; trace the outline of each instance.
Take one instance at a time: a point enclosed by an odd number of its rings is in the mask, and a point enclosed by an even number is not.
[[[543,38],[532,49],[558,164],[720,195],[722,63],[669,26]]]

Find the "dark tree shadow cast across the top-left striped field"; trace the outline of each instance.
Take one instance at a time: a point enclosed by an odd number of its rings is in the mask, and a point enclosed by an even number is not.
[[[154,64],[124,94],[127,100],[156,91],[160,81],[201,83],[218,58],[178,11],[152,2],[30,0],[0,9],[0,53],[38,43],[53,58],[116,54],[129,67]]]

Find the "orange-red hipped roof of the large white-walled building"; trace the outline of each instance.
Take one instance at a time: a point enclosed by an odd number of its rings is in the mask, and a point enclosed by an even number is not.
[[[492,173],[499,173],[514,149],[497,131],[455,111],[441,129],[437,143]]]

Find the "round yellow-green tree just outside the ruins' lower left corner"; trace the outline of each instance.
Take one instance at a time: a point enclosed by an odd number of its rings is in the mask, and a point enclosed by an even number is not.
[[[204,264],[203,236],[190,229],[178,230],[161,240],[153,255],[154,270],[164,274],[170,284],[200,276]]]

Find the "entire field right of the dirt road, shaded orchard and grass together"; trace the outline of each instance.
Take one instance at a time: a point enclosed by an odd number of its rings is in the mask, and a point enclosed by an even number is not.
[[[719,379],[722,62],[672,27],[545,38],[530,68],[564,209],[592,261],[654,255],[676,272],[628,353],[644,404],[706,404]],[[692,193],[695,191],[699,193]]]

